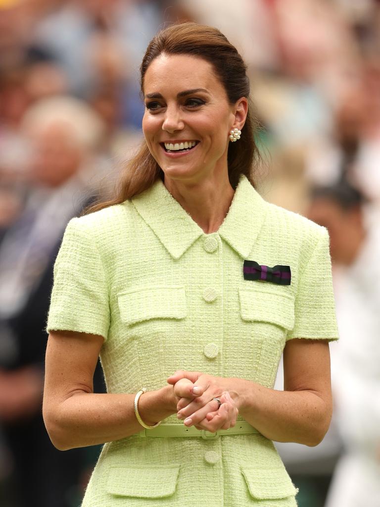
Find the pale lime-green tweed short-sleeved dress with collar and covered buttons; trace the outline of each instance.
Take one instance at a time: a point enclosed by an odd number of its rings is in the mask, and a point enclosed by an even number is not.
[[[245,259],[289,265],[291,284],[245,280]],[[241,176],[222,225],[205,234],[158,179],[70,221],[54,268],[51,330],[103,336],[108,392],[159,389],[177,369],[273,388],[286,340],[338,338],[327,230],[265,202]],[[175,414],[166,422],[183,424]],[[295,492],[261,434],[137,433],[104,444],[82,507],[294,507]]]

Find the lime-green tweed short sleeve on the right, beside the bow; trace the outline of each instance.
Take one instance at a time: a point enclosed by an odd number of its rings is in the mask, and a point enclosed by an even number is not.
[[[332,285],[329,234],[321,228],[311,257],[300,269],[295,296],[294,328],[287,340],[292,338],[337,340],[335,300]]]

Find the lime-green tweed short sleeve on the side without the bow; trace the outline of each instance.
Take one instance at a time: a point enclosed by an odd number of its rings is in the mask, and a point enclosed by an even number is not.
[[[54,264],[46,331],[101,335],[109,327],[108,286],[99,250],[81,219],[68,223]]]

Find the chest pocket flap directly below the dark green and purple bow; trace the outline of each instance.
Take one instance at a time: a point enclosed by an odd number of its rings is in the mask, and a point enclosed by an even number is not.
[[[294,328],[294,300],[292,296],[270,289],[239,287],[240,312],[243,320],[261,320]]]

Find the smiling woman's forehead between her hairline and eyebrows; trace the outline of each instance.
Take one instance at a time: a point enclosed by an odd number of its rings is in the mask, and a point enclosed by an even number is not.
[[[161,54],[146,70],[144,94],[165,95],[195,88],[205,88],[211,93],[225,95],[213,66],[201,57]]]

